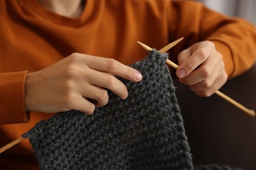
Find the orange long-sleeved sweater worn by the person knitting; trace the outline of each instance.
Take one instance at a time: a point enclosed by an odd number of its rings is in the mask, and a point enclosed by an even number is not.
[[[170,52],[176,62],[182,49],[210,40],[223,54],[229,77],[249,69],[256,57],[253,25],[190,1],[87,0],[81,17],[74,19],[43,9],[36,0],[2,0],[0,25],[0,147],[52,115],[26,112],[26,74],[72,52],[128,65],[146,56],[137,41],[160,49],[184,37]],[[37,167],[29,141],[0,154],[1,167]]]

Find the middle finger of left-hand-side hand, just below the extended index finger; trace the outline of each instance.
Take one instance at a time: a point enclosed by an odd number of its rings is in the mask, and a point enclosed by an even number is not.
[[[116,93],[119,97],[121,97],[121,99],[126,99],[128,96],[128,91],[125,84],[118,80],[114,75],[92,70],[91,76],[89,75],[87,78],[91,84],[100,86],[102,88],[107,88]]]

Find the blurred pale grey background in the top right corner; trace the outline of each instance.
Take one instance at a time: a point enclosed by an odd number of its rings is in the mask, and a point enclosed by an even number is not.
[[[239,16],[256,25],[255,0],[196,0],[228,16]]]

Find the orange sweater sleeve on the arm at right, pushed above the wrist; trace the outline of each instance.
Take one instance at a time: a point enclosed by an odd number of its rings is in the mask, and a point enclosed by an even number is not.
[[[169,15],[171,39],[184,37],[184,41],[174,50],[176,56],[182,48],[208,40],[223,55],[229,78],[241,75],[255,63],[255,25],[241,18],[230,18],[192,1],[173,1]]]

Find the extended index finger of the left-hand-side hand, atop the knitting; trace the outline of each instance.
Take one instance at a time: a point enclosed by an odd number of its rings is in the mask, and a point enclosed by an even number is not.
[[[110,58],[91,58],[89,63],[91,69],[102,71],[106,73],[112,73],[114,75],[121,76],[127,80],[139,82],[142,79],[142,75],[136,69],[129,67]]]

